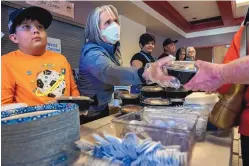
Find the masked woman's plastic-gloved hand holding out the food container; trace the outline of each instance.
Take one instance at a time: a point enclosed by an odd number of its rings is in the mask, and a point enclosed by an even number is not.
[[[161,87],[172,87],[179,89],[181,86],[180,81],[163,70],[163,66],[172,64],[175,60],[172,56],[167,56],[154,63],[147,63],[143,77],[147,84],[157,83]]]

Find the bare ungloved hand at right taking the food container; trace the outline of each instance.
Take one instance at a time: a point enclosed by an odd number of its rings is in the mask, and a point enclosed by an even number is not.
[[[222,77],[220,76],[222,64],[196,61],[195,65],[198,68],[198,72],[184,85],[185,89],[212,92],[223,85]]]

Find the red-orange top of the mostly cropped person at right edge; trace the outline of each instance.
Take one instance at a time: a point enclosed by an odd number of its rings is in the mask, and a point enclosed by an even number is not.
[[[229,63],[240,57],[240,41],[243,29],[244,26],[241,27],[238,32],[234,35],[233,41],[231,42],[231,46],[229,47],[225,55],[223,63]],[[226,92],[228,92],[230,87],[231,84],[223,85],[221,88],[218,89],[218,92],[221,94],[225,94]],[[246,89],[244,99],[247,104],[240,118],[239,132],[242,135],[249,136],[249,87],[247,87]]]

